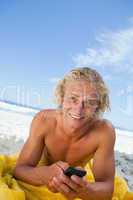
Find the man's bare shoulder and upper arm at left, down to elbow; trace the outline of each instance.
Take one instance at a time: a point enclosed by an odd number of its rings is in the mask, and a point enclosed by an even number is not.
[[[34,116],[31,123],[29,136],[20,152],[17,165],[37,165],[45,146],[47,133],[49,133],[50,129],[53,128],[52,124],[55,121],[54,113],[54,110],[41,110]]]

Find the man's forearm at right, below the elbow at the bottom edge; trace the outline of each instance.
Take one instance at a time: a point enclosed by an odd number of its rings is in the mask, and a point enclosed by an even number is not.
[[[88,183],[87,193],[83,194],[83,200],[111,200],[113,186],[108,182]]]

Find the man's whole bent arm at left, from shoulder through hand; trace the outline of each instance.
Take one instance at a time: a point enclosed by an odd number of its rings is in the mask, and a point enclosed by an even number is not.
[[[34,117],[30,135],[17,160],[14,176],[32,185],[46,185],[52,192],[57,192],[51,185],[51,180],[55,176],[63,176],[62,169],[68,168],[69,164],[57,161],[49,166],[37,166],[45,147],[45,137],[49,129],[46,115],[47,111],[41,111]]]

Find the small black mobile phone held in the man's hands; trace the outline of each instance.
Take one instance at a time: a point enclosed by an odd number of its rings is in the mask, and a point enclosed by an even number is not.
[[[67,175],[68,177],[71,177],[72,175],[83,177],[83,176],[86,175],[86,171],[85,170],[76,169],[74,167],[68,167],[64,171],[64,174]]]

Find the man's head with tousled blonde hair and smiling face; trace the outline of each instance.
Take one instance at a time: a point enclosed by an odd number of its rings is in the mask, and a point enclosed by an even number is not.
[[[56,87],[56,100],[75,117],[100,116],[109,109],[108,89],[100,74],[91,68],[75,68]]]

